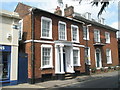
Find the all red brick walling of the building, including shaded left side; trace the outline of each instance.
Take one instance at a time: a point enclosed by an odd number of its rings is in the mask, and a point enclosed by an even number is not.
[[[24,5],[23,5],[24,6]],[[26,6],[25,6],[26,7]],[[15,11],[18,12],[21,17],[23,17],[23,23],[24,23],[24,40],[30,40],[31,39],[31,14],[22,15],[22,13],[28,13],[28,9],[30,7],[26,7],[25,10],[22,6],[18,7]],[[23,10],[22,10],[23,9]],[[48,17],[52,19],[52,40],[42,39],[41,37],[41,16]],[[83,40],[83,29],[82,24],[77,23],[75,21],[59,17],[53,14],[50,14],[48,12],[40,11],[35,14],[35,24],[34,24],[34,32],[35,32],[35,40],[45,40],[45,41],[56,41],[58,40],[58,22],[63,21],[66,22],[67,25],[67,41],[71,41],[71,24],[77,25],[79,27],[79,40],[80,45],[86,45],[86,41]],[[105,31],[110,32],[111,36],[111,43],[106,44],[105,46],[95,47],[93,45],[93,38],[94,38],[94,29],[99,29],[101,38],[105,39]],[[90,40],[88,41],[88,46],[90,47],[90,53],[91,53],[91,67],[95,67],[95,49],[100,48],[102,51],[102,63],[103,66],[115,66],[118,65],[118,46],[117,46],[117,40],[116,40],[116,34],[115,32],[96,27],[91,26],[90,30]],[[44,69],[41,70],[41,44],[43,43],[35,43],[35,77],[41,78],[42,74],[55,74],[55,48],[54,44],[50,44],[53,46],[53,66],[52,69]],[[45,43],[44,43],[45,44]],[[78,45],[79,45],[78,44]],[[112,51],[112,61],[113,63],[111,65],[106,64],[106,48],[110,48]],[[31,72],[31,43],[25,44],[25,52],[28,53],[28,77],[31,78],[32,72]],[[80,48],[80,67],[75,67],[75,71],[85,72],[85,62],[84,62],[84,48]]]

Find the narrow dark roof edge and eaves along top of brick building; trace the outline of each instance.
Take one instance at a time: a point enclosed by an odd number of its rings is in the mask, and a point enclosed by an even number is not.
[[[74,13],[74,14],[73,14],[73,18],[68,18],[68,17],[65,17],[65,16],[56,15],[56,14],[54,14],[54,13],[51,13],[51,12],[48,12],[48,11],[45,11],[45,10],[42,10],[42,9],[39,9],[39,8],[36,8],[36,7],[32,7],[32,6],[26,5],[26,4],[23,4],[23,3],[18,3],[17,7],[18,7],[19,5],[23,5],[23,6],[25,6],[25,7],[32,8],[34,11],[46,12],[46,13],[52,14],[52,15],[57,16],[57,17],[60,17],[60,18],[64,18],[64,19],[68,19],[68,20],[75,21],[75,22],[79,22],[79,23],[81,23],[81,24],[83,24],[83,22],[84,22],[84,23],[86,23],[86,24],[93,24],[93,25],[95,25],[95,26],[102,27],[102,28],[105,28],[105,29],[108,29],[108,30],[111,30],[111,31],[119,31],[119,30],[117,30],[117,29],[115,29],[115,28],[112,28],[112,27],[110,27],[110,26],[108,26],[108,25],[103,25],[103,24],[101,24],[101,23],[88,20],[88,19],[80,16],[79,13]],[[17,8],[17,7],[16,7],[16,8]],[[15,11],[16,11],[16,9],[15,9]]]

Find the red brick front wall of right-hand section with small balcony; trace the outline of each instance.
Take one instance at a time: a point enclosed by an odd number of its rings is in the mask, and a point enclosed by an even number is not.
[[[105,44],[104,46],[94,46],[94,29],[100,30],[100,38],[105,40],[105,32],[110,33],[110,44]],[[90,53],[91,53],[91,67],[95,67],[95,49],[99,48],[101,50],[102,55],[102,66],[108,67],[108,66],[115,66],[118,65],[118,46],[117,46],[117,39],[116,39],[116,32],[106,30],[100,27],[92,26],[89,30],[90,33],[90,40],[88,41],[88,46],[90,47]],[[112,64],[107,64],[106,61],[106,49],[111,49],[112,52]]]

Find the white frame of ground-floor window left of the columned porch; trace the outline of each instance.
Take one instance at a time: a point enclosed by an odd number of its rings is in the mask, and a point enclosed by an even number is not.
[[[43,66],[43,48],[51,48],[51,52],[50,52],[50,65],[45,65]],[[53,47],[52,45],[47,45],[47,44],[42,44],[41,45],[41,69],[44,68],[53,68]]]

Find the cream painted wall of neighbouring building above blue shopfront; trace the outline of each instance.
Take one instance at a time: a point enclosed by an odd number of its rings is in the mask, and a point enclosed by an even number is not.
[[[18,73],[18,30],[13,24],[18,24],[20,18],[16,13],[0,11],[0,45],[11,46],[10,80],[17,80]],[[11,39],[7,35],[11,35]]]

